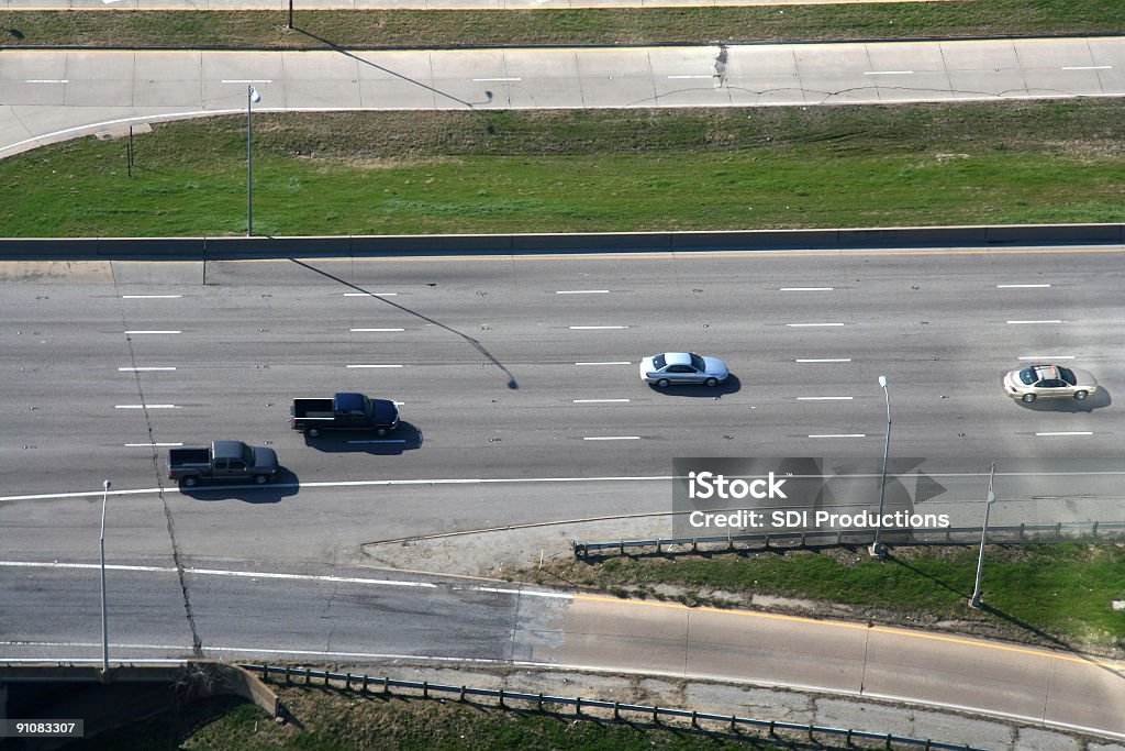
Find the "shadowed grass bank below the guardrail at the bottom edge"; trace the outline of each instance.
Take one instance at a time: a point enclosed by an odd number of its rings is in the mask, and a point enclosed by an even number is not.
[[[189,705],[76,744],[81,751],[359,751],[567,749],[672,751],[776,749],[748,734],[576,721],[573,710],[504,710],[456,700],[385,699],[333,689],[271,685],[295,722],[278,725],[250,704]],[[807,736],[806,736],[807,737]],[[817,748],[843,749],[832,743]]]

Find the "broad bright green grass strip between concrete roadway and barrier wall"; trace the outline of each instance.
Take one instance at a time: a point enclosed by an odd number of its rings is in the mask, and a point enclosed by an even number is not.
[[[1125,104],[262,114],[259,234],[1125,221]],[[0,162],[11,236],[245,231],[245,119]]]

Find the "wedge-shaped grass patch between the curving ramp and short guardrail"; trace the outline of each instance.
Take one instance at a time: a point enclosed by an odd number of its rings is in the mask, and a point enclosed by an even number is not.
[[[988,609],[965,602],[973,591],[978,551],[907,548],[883,562],[866,549],[717,555],[708,558],[610,558],[574,562],[557,573],[603,591],[652,596],[673,584],[685,599],[710,601],[720,590],[848,606],[846,617],[908,625],[957,622],[969,631],[1034,643],[1097,651],[1125,650],[1125,545],[1059,544],[989,546],[983,599]]]

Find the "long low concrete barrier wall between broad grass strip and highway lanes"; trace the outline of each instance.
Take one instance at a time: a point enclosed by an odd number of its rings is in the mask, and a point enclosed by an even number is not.
[[[992,248],[1045,243],[1117,244],[1123,241],[1125,225],[1122,224],[309,238],[0,238],[0,259],[225,260],[315,256]]]

